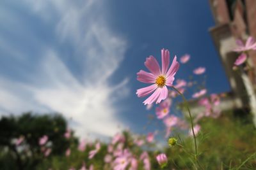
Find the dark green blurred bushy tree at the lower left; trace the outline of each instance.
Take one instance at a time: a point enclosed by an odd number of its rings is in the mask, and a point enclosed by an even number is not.
[[[4,169],[35,169],[44,155],[38,140],[44,135],[51,141],[52,155],[61,155],[70,142],[63,137],[67,123],[61,115],[24,113],[20,117],[3,117],[0,120],[0,167]],[[24,137],[24,145],[17,149],[13,139]],[[75,140],[76,141],[76,140]],[[8,158],[8,159],[7,159]],[[6,160],[8,164],[6,163]],[[6,165],[10,165],[6,166]]]

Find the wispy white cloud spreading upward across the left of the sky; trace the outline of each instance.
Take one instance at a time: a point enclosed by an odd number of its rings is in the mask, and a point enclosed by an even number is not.
[[[40,56],[36,56],[40,60],[33,63],[36,70],[26,75],[29,81],[14,81],[8,76],[0,79],[0,94],[4,96],[0,100],[1,112],[59,111],[72,118],[78,136],[115,134],[117,126],[123,124],[116,118],[115,102],[127,96],[128,80],[124,78],[115,86],[108,81],[124,59],[126,42],[102,22],[104,15],[97,12],[102,5],[100,1],[28,0],[24,5],[41,17],[42,22],[54,26],[60,46],[65,42],[70,44],[74,51],[72,59],[81,67],[83,80],[77,80],[63,62],[61,48],[42,43]]]

